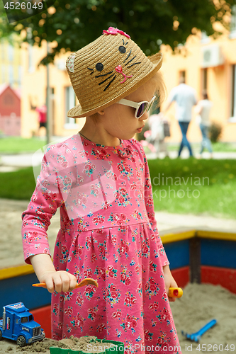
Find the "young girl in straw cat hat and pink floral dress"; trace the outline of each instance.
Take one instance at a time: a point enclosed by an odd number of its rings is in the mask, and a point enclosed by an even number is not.
[[[181,353],[169,307],[169,270],[154,219],[141,132],[164,85],[162,55],[150,58],[116,28],[67,59],[82,130],[51,145],[23,212],[23,248],[52,292],[52,337],[97,336],[125,343],[125,353]],[[60,207],[53,263],[50,218]],[[94,278],[99,287],[74,290]]]

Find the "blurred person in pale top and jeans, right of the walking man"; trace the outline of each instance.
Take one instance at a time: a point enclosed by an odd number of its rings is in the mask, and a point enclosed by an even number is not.
[[[203,100],[198,101],[196,106],[197,122],[201,129],[202,142],[201,142],[201,151],[200,157],[203,154],[204,147],[210,152],[210,158],[213,158],[213,149],[211,147],[211,142],[209,139],[209,129],[210,129],[210,109],[212,108],[213,103],[208,99],[208,93],[203,91]]]

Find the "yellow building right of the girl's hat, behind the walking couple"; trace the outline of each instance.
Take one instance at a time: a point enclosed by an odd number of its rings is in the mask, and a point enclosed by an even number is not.
[[[222,30],[222,28],[218,28]],[[186,84],[196,89],[198,99],[202,99],[203,89],[206,89],[213,108],[210,120],[218,122],[223,127],[220,140],[235,142],[236,140],[236,28],[224,34],[217,40],[197,32],[189,36],[186,45],[179,46],[180,54],[172,54],[169,47],[162,45],[164,55],[162,73],[169,91],[179,84],[179,77],[185,76]],[[163,103],[162,109],[167,106]],[[171,122],[172,136],[169,142],[181,139],[179,124],[175,119],[174,103],[167,112]],[[201,139],[201,131],[193,119],[189,125],[188,137],[191,142]]]

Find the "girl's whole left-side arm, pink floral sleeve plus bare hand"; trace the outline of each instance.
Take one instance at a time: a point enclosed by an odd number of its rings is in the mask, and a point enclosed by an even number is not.
[[[69,175],[73,180],[72,156],[72,152],[63,144],[47,149],[35,191],[28,209],[22,215],[23,251],[26,263],[32,263],[38,279],[46,283],[49,292],[72,290],[77,282],[74,275],[55,270],[47,239],[50,219],[66,200],[66,192],[69,190],[68,187],[65,193],[61,191],[64,188],[64,178]]]

